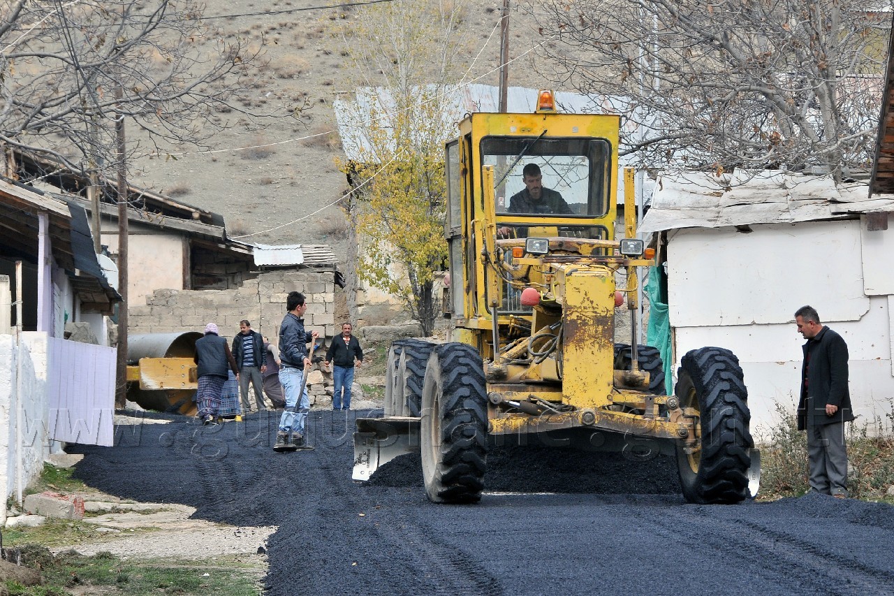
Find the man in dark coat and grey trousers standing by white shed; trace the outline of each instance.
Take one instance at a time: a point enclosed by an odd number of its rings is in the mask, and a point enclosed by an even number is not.
[[[801,370],[797,429],[807,431],[810,489],[848,497],[845,422],[854,420],[848,391],[848,345],[825,327],[810,306],[795,313],[797,331],[807,340]]]

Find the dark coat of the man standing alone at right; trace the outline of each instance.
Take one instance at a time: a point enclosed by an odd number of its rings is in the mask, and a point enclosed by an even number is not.
[[[804,362],[801,368],[801,400],[797,404],[797,429],[805,430],[807,416],[813,416],[816,425],[854,420],[848,391],[848,345],[839,334],[823,327],[803,347]],[[807,366],[807,353],[810,365]],[[809,375],[805,390],[805,369]],[[809,393],[809,396],[807,395]],[[838,406],[838,411],[826,415],[826,404]],[[807,412],[807,409],[810,412]]]

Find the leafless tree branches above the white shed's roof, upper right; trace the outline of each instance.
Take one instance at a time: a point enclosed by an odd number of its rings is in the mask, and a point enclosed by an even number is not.
[[[640,165],[839,178],[873,155],[883,4],[546,0],[537,12],[554,81],[624,114],[621,154]]]

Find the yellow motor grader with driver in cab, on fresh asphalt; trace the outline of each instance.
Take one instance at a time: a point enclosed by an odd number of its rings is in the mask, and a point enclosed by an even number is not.
[[[446,147],[453,341],[391,346],[384,417],[357,420],[354,479],[421,450],[430,500],[476,502],[489,446],[540,439],[675,454],[690,502],[754,496],[759,454],[736,356],[687,353],[667,396],[635,317],[630,343],[615,343],[615,308],[636,311],[636,270],[654,266],[636,238],[632,170],[616,240],[619,125],[557,113],[548,91],[535,113],[462,120]]]

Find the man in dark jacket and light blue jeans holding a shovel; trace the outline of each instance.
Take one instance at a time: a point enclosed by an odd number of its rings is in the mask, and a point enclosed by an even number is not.
[[[310,396],[304,382],[310,370],[308,341],[316,340],[316,331],[304,330],[304,311],[308,310],[304,294],[290,292],[286,297],[283,324],[280,325],[280,382],[285,391],[285,409],[280,417],[274,451],[286,451],[305,447],[304,422],[310,410]],[[309,336],[308,336],[309,335]]]

